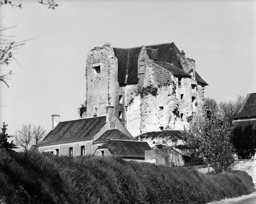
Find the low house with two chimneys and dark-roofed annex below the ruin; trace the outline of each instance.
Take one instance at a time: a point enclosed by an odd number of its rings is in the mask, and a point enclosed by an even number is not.
[[[129,160],[143,160],[149,149],[147,142],[135,141],[112,106],[106,107],[105,116],[60,122],[59,115],[52,115],[52,130],[38,144],[39,152],[53,155],[114,155]]]

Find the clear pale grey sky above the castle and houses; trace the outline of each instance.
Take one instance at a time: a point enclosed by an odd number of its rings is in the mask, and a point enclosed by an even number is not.
[[[209,84],[205,97],[218,102],[256,92],[256,1],[220,0],[55,0],[56,10],[37,0],[19,1],[22,9],[0,7],[5,35],[27,40],[3,72],[0,123],[14,134],[22,124],[52,127],[79,118],[85,101],[85,65],[93,47],[137,47],[174,42]]]

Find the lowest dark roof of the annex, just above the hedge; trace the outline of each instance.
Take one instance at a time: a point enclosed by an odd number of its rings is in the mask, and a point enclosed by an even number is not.
[[[99,149],[107,148],[112,155],[125,157],[145,157],[145,150],[150,150],[147,142],[111,139]]]

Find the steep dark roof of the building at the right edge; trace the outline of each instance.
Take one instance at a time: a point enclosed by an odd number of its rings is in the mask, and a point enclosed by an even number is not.
[[[256,93],[246,95],[242,107],[234,118],[245,118],[256,116]]]

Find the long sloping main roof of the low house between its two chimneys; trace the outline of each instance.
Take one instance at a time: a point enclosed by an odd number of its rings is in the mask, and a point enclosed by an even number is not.
[[[60,122],[43,139],[44,142],[93,137],[106,124],[106,116]]]

